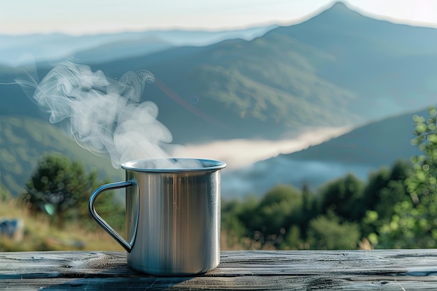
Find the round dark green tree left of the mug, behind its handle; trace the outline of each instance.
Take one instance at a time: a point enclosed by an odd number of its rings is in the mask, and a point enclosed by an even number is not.
[[[50,221],[63,227],[67,218],[89,218],[89,195],[99,184],[102,182],[96,171],[87,173],[81,163],[61,154],[45,154],[27,181],[21,199],[31,214],[48,215]],[[101,204],[114,205],[110,200],[105,197]]]

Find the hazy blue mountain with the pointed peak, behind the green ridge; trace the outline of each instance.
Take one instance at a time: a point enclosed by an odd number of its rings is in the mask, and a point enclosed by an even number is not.
[[[436,29],[375,20],[338,2],[310,20],[274,29],[265,38],[277,36],[329,55],[329,61],[308,61],[319,77],[356,94],[352,112],[378,119],[434,103]]]

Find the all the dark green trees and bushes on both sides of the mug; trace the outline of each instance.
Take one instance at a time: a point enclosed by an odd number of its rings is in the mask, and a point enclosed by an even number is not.
[[[413,146],[421,155],[399,160],[369,173],[367,181],[353,174],[317,189],[277,185],[263,197],[221,202],[221,248],[226,249],[372,249],[437,247],[437,111],[413,116]],[[290,172],[292,172],[290,170]],[[43,156],[23,193],[12,198],[0,187],[0,200],[11,201],[38,223],[61,232],[80,225],[94,233],[88,214],[89,194],[107,181],[61,154]],[[98,212],[123,233],[124,207],[105,199]],[[25,226],[24,242],[38,230]],[[83,235],[82,235],[83,237]],[[79,239],[80,240],[80,239]],[[86,242],[68,248],[87,249]],[[58,249],[42,244],[0,240],[1,251]],[[102,247],[101,245],[99,246]]]

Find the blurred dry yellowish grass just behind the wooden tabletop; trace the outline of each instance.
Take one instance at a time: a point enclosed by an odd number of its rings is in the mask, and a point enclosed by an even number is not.
[[[89,225],[70,222],[62,230],[52,225],[47,216],[35,218],[16,200],[0,202],[0,218],[22,218],[24,236],[20,240],[0,236],[0,252],[5,251],[124,251],[112,237],[96,225],[92,218]],[[105,219],[105,218],[104,218]],[[123,234],[119,230],[119,234]],[[360,249],[370,249],[369,241],[360,241]],[[261,244],[249,237],[238,237],[232,231],[221,231],[221,251],[276,250],[274,241]]]

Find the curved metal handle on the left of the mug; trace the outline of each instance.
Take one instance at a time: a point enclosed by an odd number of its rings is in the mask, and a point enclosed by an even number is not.
[[[128,188],[131,186],[132,186],[131,181],[122,181],[122,182],[102,185],[98,187],[91,194],[91,196],[89,197],[89,204],[88,204],[89,214],[91,215],[91,217],[94,218],[95,221],[97,221],[98,225],[100,225],[103,228],[103,230],[108,232],[108,234],[110,234],[110,236],[113,237],[115,241],[117,241],[126,251],[128,251],[128,253],[131,253],[132,251],[132,245],[133,245],[132,242],[131,244],[129,244],[123,237],[121,237],[120,234],[118,234],[112,227],[110,227],[110,225],[106,221],[104,221],[103,218],[101,218],[101,216],[97,214],[96,209],[94,208],[94,202],[96,202],[98,195],[100,195],[104,191],[109,191],[119,188]]]

